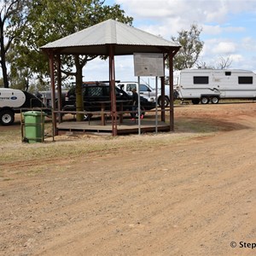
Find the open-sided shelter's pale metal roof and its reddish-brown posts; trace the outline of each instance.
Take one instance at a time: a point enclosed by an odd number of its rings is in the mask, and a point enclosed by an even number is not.
[[[116,127],[116,99],[115,99],[115,73],[114,55],[133,55],[134,53],[162,53],[169,58],[170,63],[170,131],[173,131],[173,66],[172,58],[180,49],[180,45],[164,38],[143,32],[135,27],[125,25],[116,20],[106,20],[95,26],[90,26],[82,31],[75,32],[55,42],[45,44],[41,49],[49,55],[50,78],[52,87],[52,102],[55,102],[55,78],[54,61],[58,60],[58,71],[60,72],[61,55],[105,55],[109,58],[109,81],[111,88],[111,112],[113,123],[113,136],[117,135]],[[58,92],[61,96],[60,74],[58,75]],[[164,96],[165,79],[161,78],[161,90]],[[61,98],[61,97],[59,97]],[[59,107],[59,111],[60,106]],[[55,106],[53,107],[55,108]],[[162,107],[164,108],[164,107]],[[54,109],[55,110],[55,109]],[[165,120],[164,111],[161,119]],[[56,118],[54,114],[54,122]],[[56,125],[54,125],[56,127]]]

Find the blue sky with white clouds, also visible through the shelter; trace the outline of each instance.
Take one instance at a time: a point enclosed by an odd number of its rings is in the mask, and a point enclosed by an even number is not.
[[[256,72],[256,0],[106,0],[118,3],[125,15],[132,16],[133,26],[160,35],[167,40],[191,24],[202,28],[204,49],[200,61],[207,65],[230,57],[230,68]],[[84,68],[87,80],[108,79],[108,61],[90,61]],[[115,57],[116,79],[137,80],[133,57]],[[153,78],[144,78],[151,84]]]

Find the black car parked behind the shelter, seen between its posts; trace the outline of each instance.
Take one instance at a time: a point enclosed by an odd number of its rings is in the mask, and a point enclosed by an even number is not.
[[[120,110],[120,105],[124,111],[131,111],[131,96],[129,96],[124,90],[115,87],[117,110]],[[111,109],[110,102],[110,87],[106,83],[84,83],[83,84],[83,96],[84,96],[84,111],[94,112],[101,111],[102,102],[106,102],[105,110]],[[155,108],[154,102],[148,102],[143,96],[140,97],[141,109],[143,111]],[[75,86],[67,91],[65,98],[64,111],[76,110],[76,94]],[[90,115],[84,115],[84,119],[89,119]]]

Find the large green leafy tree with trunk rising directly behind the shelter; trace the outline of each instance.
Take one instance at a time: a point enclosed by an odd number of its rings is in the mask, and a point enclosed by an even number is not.
[[[66,37],[103,20],[115,19],[130,24],[132,18],[125,16],[119,4],[109,6],[103,0],[32,0],[27,16],[27,26],[15,41],[18,57],[15,63],[30,67],[39,77],[49,74],[48,57],[39,50],[40,46]],[[61,56],[62,79],[75,77],[77,110],[83,110],[82,70],[96,55]],[[82,119],[81,115],[78,115]]]

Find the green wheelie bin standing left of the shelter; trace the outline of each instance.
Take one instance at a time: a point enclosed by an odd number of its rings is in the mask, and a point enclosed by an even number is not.
[[[27,111],[24,114],[25,138],[27,143],[44,142],[44,116],[41,111]]]

